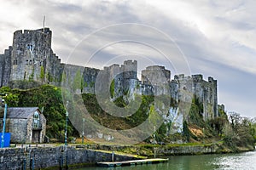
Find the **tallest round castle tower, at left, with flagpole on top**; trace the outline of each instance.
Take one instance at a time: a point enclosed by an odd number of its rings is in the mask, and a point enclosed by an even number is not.
[[[33,80],[45,82],[47,59],[51,57],[51,31],[15,31],[11,55],[10,81]],[[41,70],[44,70],[42,74]]]

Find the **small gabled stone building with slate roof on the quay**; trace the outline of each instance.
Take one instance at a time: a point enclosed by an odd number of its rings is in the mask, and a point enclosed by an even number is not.
[[[5,132],[11,133],[11,143],[43,143],[45,131],[46,119],[38,107],[8,108]]]

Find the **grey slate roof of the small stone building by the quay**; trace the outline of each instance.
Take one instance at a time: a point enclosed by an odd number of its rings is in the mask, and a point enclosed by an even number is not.
[[[38,107],[9,107],[7,110],[7,118],[27,119],[32,116]]]

